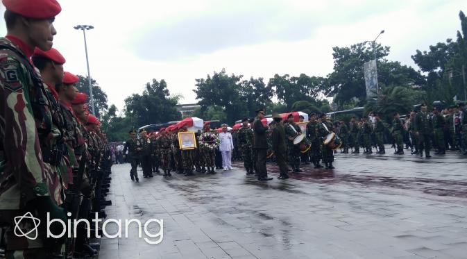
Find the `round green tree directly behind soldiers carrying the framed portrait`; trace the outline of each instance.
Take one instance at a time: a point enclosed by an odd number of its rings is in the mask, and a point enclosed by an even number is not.
[[[153,79],[146,83],[142,94],[133,94],[125,99],[126,117],[130,124],[139,127],[146,124],[158,124],[181,119],[176,105],[180,97],[172,97],[167,89],[167,83]]]

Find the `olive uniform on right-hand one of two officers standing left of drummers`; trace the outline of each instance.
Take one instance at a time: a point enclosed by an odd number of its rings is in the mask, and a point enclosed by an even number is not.
[[[280,118],[280,116],[278,118]],[[289,178],[289,176],[287,176],[287,146],[285,144],[285,137],[285,127],[280,122],[278,122],[273,128],[271,140],[275,154],[275,162],[277,162],[279,165],[279,179]]]

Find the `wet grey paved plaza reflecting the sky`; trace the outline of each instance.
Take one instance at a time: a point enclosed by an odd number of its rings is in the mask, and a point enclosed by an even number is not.
[[[339,153],[286,181],[269,164],[269,182],[235,166],[133,183],[114,165],[108,217],[163,219],[164,239],[131,225],[99,258],[467,258],[467,156]]]

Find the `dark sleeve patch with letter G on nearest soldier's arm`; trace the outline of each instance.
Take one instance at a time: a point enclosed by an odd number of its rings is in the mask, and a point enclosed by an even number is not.
[[[12,58],[0,59],[0,84],[12,92],[17,92],[23,88],[19,81],[20,67],[19,62]]]

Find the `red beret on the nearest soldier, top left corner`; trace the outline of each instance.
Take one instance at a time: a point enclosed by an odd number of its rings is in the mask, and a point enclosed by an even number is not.
[[[62,10],[56,0],[2,0],[6,10],[33,19],[56,17]]]

